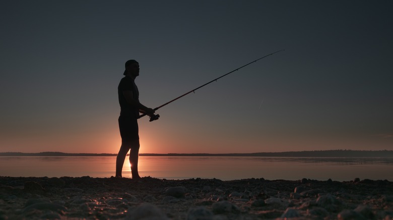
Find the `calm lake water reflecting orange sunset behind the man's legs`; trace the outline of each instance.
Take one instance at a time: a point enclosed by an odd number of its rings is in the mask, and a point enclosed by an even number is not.
[[[0,157],[0,176],[110,177],[116,157]],[[393,158],[299,157],[161,157],[141,156],[141,176],[160,179],[234,180],[302,178],[349,181],[354,178],[393,181]],[[123,176],[130,177],[128,160]]]

